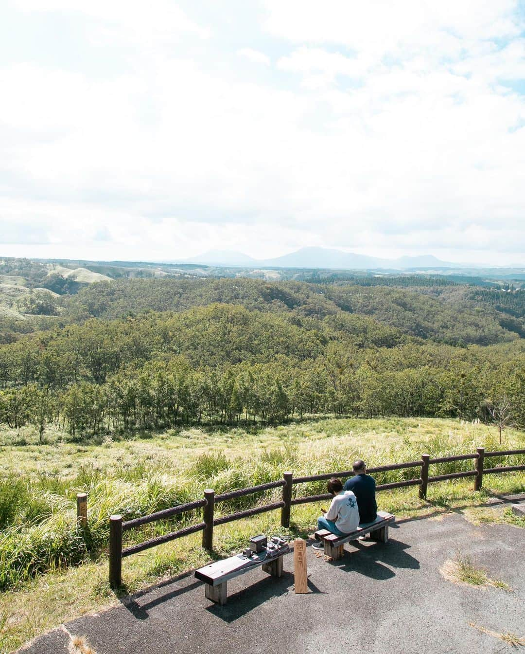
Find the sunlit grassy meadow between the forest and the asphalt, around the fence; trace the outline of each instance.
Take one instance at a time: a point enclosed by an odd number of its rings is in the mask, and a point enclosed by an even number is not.
[[[167,432],[127,432],[93,436],[82,443],[48,430],[38,444],[35,428],[0,432],[0,651],[26,642],[54,625],[85,611],[118,601],[131,593],[199,566],[209,560],[200,534],[167,543],[125,559],[123,588],[108,585],[108,516],[146,515],[202,497],[205,488],[226,492],[274,479],[285,470],[313,475],[347,470],[358,457],[369,466],[487,450],[525,447],[525,432],[507,429],[500,445],[497,430],[485,424],[450,419],[335,419],[322,417],[281,426],[188,428]],[[507,457],[505,464],[525,456]],[[498,460],[492,460],[497,465]],[[431,475],[469,470],[471,460],[432,466]],[[417,470],[375,475],[378,483],[409,479]],[[522,492],[525,474],[486,475],[481,492],[472,480],[429,485],[428,500],[417,489],[383,492],[381,508],[398,517],[450,510],[471,519],[490,519],[480,508],[494,492]],[[88,526],[76,526],[76,493],[87,492]],[[256,498],[238,498],[223,513],[279,499],[280,489]],[[294,486],[296,496],[325,492],[325,482]],[[265,513],[215,530],[215,555],[241,549],[256,532],[306,536],[315,526],[317,504],[294,507],[289,530],[279,526],[279,512]],[[220,514],[219,514],[220,515]],[[505,513],[508,521],[520,521]],[[186,515],[127,532],[125,544],[146,540],[198,521]],[[522,525],[524,526],[524,525]],[[135,539],[129,540],[129,539]],[[1,649],[3,648],[3,649]]]

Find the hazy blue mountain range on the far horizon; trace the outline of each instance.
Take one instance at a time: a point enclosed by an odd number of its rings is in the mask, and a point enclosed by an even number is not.
[[[242,252],[209,250],[199,256],[185,259],[183,262],[187,264],[207,264],[208,266],[330,268],[343,270],[473,267],[471,264],[441,261],[432,254],[402,256],[398,259],[381,259],[366,256],[366,254],[354,254],[353,252],[322,247],[303,247],[296,250],[296,252],[290,252],[274,259],[253,259]],[[182,262],[179,261],[178,263]]]

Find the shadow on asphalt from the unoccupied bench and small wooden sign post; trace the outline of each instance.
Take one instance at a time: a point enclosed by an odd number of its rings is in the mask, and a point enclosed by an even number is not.
[[[224,622],[232,623],[246,615],[246,613],[261,606],[264,602],[292,592],[293,587],[293,573],[283,572],[283,576],[279,577],[279,579],[276,579],[276,577],[266,577],[247,586],[242,591],[229,594],[225,606],[210,604],[210,606],[206,607],[206,611],[217,616]],[[317,588],[310,578],[308,579],[308,589],[310,590],[308,594],[325,594]]]

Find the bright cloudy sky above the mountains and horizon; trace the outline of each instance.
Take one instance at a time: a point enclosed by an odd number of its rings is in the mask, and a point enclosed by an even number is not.
[[[522,0],[0,0],[0,256],[525,265]]]

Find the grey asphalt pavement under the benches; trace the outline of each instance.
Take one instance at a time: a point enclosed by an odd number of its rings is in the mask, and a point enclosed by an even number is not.
[[[513,591],[445,580],[439,568],[458,549]],[[387,544],[349,543],[335,562],[308,547],[307,560],[308,594],[294,594],[287,555],[281,579],[257,568],[229,581],[223,607],[206,600],[190,574],[65,628],[87,636],[97,654],[496,654],[513,648],[469,623],[525,636],[525,530],[518,527],[477,527],[451,513],[390,526]],[[24,654],[66,654],[68,642],[59,628]]]

